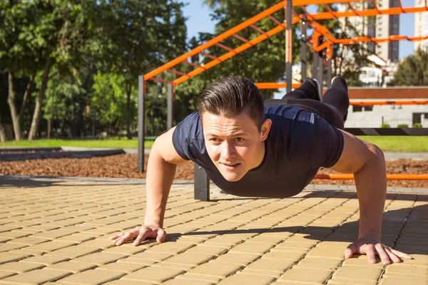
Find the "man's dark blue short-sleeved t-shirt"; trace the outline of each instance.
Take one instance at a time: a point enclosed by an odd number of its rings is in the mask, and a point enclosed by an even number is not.
[[[263,162],[236,182],[225,180],[208,156],[198,112],[177,125],[173,145],[180,157],[203,167],[221,190],[248,197],[296,195],[320,167],[332,167],[342,155],[342,133],[319,115],[275,105],[265,107],[265,119],[272,120],[272,127],[265,140]]]

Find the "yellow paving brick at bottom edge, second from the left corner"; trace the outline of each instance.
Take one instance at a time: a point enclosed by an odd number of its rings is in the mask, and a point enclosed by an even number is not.
[[[65,272],[61,270],[55,270],[57,272]],[[123,272],[119,271],[106,271],[106,270],[87,270],[80,272],[78,274],[73,274],[64,279],[61,279],[61,283],[71,283],[71,284],[103,284],[108,281],[113,281],[115,279],[121,278],[125,275]]]

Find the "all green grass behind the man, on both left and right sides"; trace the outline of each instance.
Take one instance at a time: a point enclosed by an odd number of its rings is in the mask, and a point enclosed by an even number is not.
[[[428,152],[428,137],[425,136],[359,136],[389,152]],[[151,148],[153,140],[146,140],[145,148]],[[0,147],[109,147],[137,148],[138,140],[122,138],[106,140],[21,140],[19,142],[0,142]]]

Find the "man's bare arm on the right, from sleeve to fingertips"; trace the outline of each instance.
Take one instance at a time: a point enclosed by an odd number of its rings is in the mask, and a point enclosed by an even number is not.
[[[382,216],[387,192],[387,174],[382,150],[370,142],[342,131],[344,147],[342,155],[332,170],[353,173],[360,204],[360,230],[358,241],[345,251],[345,258],[354,253],[367,254],[371,263],[378,254],[384,264],[398,257],[410,258],[407,254],[389,249],[380,243]]]

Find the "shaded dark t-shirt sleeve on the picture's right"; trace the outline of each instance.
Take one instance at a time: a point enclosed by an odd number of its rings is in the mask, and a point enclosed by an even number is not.
[[[342,155],[344,138],[327,120],[314,115],[312,163],[314,167],[332,167]]]

